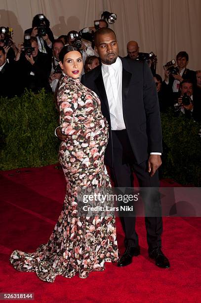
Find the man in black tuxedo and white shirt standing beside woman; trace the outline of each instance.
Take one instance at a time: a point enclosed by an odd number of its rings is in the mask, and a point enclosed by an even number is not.
[[[105,163],[111,168],[115,186],[133,187],[134,170],[141,187],[159,187],[162,136],[152,72],[146,62],[119,57],[113,30],[96,31],[94,40],[102,65],[83,75],[81,81],[99,96],[102,113],[110,125]],[[156,203],[160,208],[160,201]],[[118,265],[125,266],[140,254],[140,247],[135,218],[121,219],[126,250]],[[169,261],[161,251],[161,216],[145,217],[145,224],[149,256],[156,265],[168,268]]]

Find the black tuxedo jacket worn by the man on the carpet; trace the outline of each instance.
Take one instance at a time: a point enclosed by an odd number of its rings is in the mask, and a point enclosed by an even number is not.
[[[121,57],[120,57],[121,58]],[[148,159],[150,152],[162,152],[161,118],[156,84],[146,62],[121,58],[123,119],[136,163]],[[113,141],[110,110],[101,65],[84,74],[83,85],[100,98],[101,111],[109,126],[105,164],[113,167]]]

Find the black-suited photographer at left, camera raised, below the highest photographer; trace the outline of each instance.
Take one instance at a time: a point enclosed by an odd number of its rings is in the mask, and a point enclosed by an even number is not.
[[[17,69],[19,71],[19,86],[21,93],[25,88],[31,89],[37,93],[40,89],[45,88],[47,92],[51,92],[48,82],[51,71],[51,58],[42,53],[38,47],[38,41],[35,37],[30,39],[30,47],[25,49],[24,44],[18,45],[18,52],[15,57]]]

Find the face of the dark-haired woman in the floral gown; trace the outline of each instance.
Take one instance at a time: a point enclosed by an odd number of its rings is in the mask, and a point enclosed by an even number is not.
[[[80,77],[83,62],[79,51],[69,51],[65,54],[63,63],[59,61],[59,64],[61,66],[61,69],[63,69],[63,72],[69,77],[72,77],[74,79]]]

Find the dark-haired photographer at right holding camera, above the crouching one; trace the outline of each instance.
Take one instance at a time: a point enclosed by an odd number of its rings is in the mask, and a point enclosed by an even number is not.
[[[187,64],[189,62],[189,55],[186,51],[180,51],[176,55],[177,73],[171,73],[170,71],[165,71],[165,79],[163,81],[163,85],[169,98],[171,99],[171,103],[175,99],[178,98],[179,86],[183,80],[189,79],[192,81],[193,85],[196,85],[196,73],[193,70],[187,68]]]

